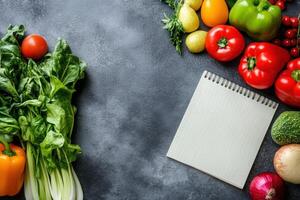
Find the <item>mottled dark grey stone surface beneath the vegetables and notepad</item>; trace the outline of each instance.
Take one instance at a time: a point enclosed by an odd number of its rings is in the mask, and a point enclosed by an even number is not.
[[[300,1],[288,10],[296,15]],[[245,86],[237,62],[186,51],[180,57],[161,28],[169,11],[159,0],[0,1],[2,33],[24,24],[51,48],[63,37],[89,65],[75,98],[74,139],[83,154],[74,165],[85,199],[249,199],[249,181],[241,191],[165,156],[204,69]],[[259,93],[275,98],[272,91]],[[287,109],[281,105],[277,115]],[[249,180],[273,170],[277,148],[268,132]],[[299,186],[287,190],[287,199],[300,199]]]

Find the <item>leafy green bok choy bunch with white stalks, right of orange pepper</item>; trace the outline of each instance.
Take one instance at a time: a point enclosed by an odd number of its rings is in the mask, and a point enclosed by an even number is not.
[[[64,40],[39,64],[30,60],[21,74],[23,102],[18,121],[26,141],[27,199],[82,199],[82,189],[71,163],[81,152],[71,143],[76,108],[72,95],[86,64],[74,56]]]

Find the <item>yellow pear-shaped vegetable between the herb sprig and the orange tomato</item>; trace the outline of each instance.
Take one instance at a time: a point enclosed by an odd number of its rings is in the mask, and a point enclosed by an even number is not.
[[[197,30],[200,24],[196,11],[187,4],[182,5],[178,19],[182,23],[183,30],[186,33]]]

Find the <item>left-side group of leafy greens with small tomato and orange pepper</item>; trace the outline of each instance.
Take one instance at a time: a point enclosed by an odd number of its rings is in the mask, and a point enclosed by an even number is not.
[[[0,188],[0,196],[18,193],[25,176],[26,199],[83,199],[72,167],[81,149],[71,136],[76,113],[72,95],[86,64],[65,40],[46,54],[42,36],[24,36],[24,26],[9,26],[0,40],[0,156],[18,160],[11,161],[15,167],[9,171],[0,167],[0,182],[8,181],[3,173],[15,178],[6,191]],[[24,150],[9,145],[12,141],[25,149],[25,174]]]

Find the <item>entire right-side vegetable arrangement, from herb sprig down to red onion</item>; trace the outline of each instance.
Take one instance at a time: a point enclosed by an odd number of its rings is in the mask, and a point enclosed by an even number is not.
[[[174,11],[163,23],[177,52],[182,54],[188,33],[185,44],[191,53],[206,50],[219,62],[242,54],[237,69],[246,84],[259,90],[274,88],[281,102],[300,108],[300,14],[282,16],[293,0],[162,1]],[[199,30],[201,21],[208,32]],[[248,46],[243,33],[254,40]],[[261,173],[251,182],[254,200],[284,199],[284,181],[300,184],[300,111],[282,113],[271,132],[284,146],[274,157],[276,173]]]

